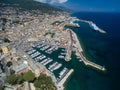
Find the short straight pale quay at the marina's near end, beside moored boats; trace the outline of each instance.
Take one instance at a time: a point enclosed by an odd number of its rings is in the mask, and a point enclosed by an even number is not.
[[[63,77],[63,79],[61,79],[60,82],[58,82],[58,87],[60,88],[60,90],[64,90],[64,83],[67,81],[68,77],[73,73],[73,69],[70,69],[69,72]]]

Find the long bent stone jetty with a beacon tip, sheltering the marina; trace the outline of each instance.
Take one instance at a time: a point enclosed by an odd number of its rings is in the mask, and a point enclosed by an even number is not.
[[[82,61],[84,62],[85,65],[94,67],[98,70],[105,71],[106,69],[105,69],[104,66],[98,65],[98,64],[86,59],[86,57],[83,55],[83,50],[82,50],[81,44],[80,44],[80,42],[77,38],[77,35],[72,30],[71,30],[71,32],[72,32],[72,37],[74,38],[74,40],[76,42],[76,43],[74,43],[74,45],[76,46],[76,55],[81,57],[81,59],[82,59]]]

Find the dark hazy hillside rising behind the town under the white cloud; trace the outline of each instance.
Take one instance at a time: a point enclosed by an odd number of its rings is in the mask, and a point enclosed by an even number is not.
[[[14,4],[16,4],[23,10],[40,10],[42,13],[49,14],[52,14],[56,11],[63,11],[60,8],[53,7],[49,4],[40,3],[34,0],[0,0],[0,4],[3,3],[9,4],[11,6],[14,6]]]

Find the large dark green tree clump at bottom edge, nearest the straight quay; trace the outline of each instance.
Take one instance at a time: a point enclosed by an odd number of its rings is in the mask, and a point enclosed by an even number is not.
[[[43,74],[41,74],[38,79],[34,81],[34,85],[36,88],[40,88],[40,90],[57,90],[51,77]]]

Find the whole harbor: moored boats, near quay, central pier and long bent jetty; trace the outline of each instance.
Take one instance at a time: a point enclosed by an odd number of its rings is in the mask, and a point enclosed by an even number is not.
[[[71,29],[68,29],[67,32],[69,33],[70,41],[66,48],[59,50],[59,46],[51,45],[50,43],[43,40],[39,43],[35,43],[30,49],[26,50],[28,55],[35,62],[42,64],[47,69],[47,71],[49,71],[51,75],[54,76],[54,81],[59,88],[58,90],[64,89],[65,82],[74,72],[74,69],[69,67],[69,65],[66,66],[66,61],[70,61],[72,59],[73,51],[76,52],[77,57],[80,57],[80,63],[83,62],[86,66],[91,66],[101,71],[106,70],[105,67],[87,60],[83,55],[83,49],[75,32],[73,32]],[[55,55],[56,52],[59,52],[59,54]],[[61,60],[65,62],[61,63]]]

